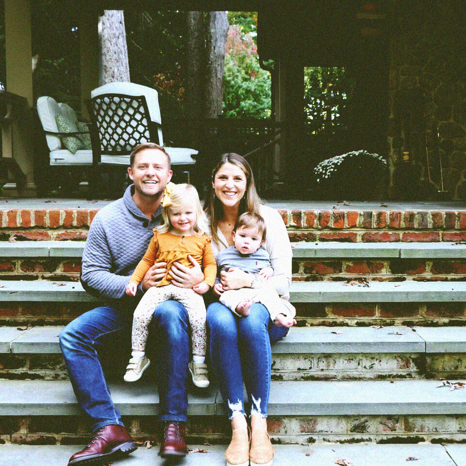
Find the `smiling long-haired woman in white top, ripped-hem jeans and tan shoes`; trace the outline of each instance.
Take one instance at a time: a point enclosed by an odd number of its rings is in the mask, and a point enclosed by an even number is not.
[[[233,245],[233,226],[242,213],[260,214],[267,229],[265,249],[274,276],[268,284],[289,299],[291,245],[280,214],[261,205],[248,162],[238,154],[223,154],[212,173],[212,191],[204,210],[210,216],[214,255]],[[253,277],[239,269],[221,272],[224,290],[251,287]],[[291,316],[293,317],[293,316]],[[270,342],[288,332],[276,327],[265,306],[255,303],[250,315],[237,317],[219,302],[207,308],[211,361],[222,399],[232,422],[232,442],[225,452],[227,465],[271,465],[273,448],[267,434],[270,392]],[[244,411],[243,382],[251,402],[251,441]]]

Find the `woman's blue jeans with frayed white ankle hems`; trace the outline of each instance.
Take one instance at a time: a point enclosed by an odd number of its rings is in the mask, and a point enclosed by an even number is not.
[[[276,327],[263,304],[255,303],[250,315],[237,317],[219,302],[207,308],[210,357],[229,419],[245,414],[243,380],[251,415],[267,417],[272,353],[270,343],[283,338],[286,327]]]

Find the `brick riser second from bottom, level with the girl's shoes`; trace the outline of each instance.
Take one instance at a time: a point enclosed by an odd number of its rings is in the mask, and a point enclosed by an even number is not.
[[[129,356],[128,356],[129,357]],[[127,360],[112,364],[121,381]],[[149,369],[149,374],[151,370]],[[146,377],[151,377],[148,375]],[[61,354],[0,354],[0,378],[67,380]],[[272,380],[403,380],[466,378],[465,353],[273,353]]]

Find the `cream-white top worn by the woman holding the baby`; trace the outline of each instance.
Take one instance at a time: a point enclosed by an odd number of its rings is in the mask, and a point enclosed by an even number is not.
[[[266,205],[261,205],[259,213],[264,218],[267,229],[266,242],[261,248],[269,253],[274,271],[273,277],[270,278],[267,285],[275,288],[282,299],[288,301],[290,299],[291,258],[293,256],[288,233],[283,218],[278,211]],[[215,257],[219,251],[229,246],[219,228],[217,228],[217,236],[219,244],[212,241],[212,250]]]

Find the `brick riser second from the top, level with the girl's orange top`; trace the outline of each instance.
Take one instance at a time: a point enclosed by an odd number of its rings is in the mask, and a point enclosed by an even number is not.
[[[295,281],[466,281],[466,259],[294,259]],[[78,281],[80,259],[0,259],[1,280]]]

